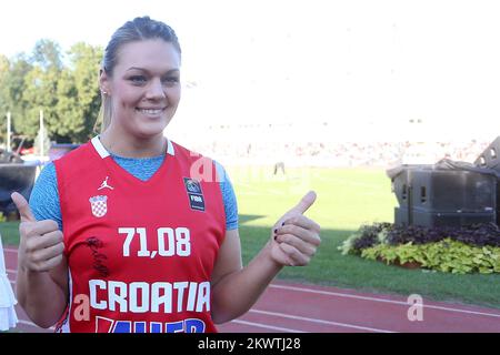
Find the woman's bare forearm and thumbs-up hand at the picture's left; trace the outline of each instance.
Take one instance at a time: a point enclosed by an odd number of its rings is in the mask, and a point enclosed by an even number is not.
[[[50,327],[68,304],[68,265],[62,254],[62,232],[54,221],[37,221],[28,202],[12,194],[20,214],[17,296],[28,316]]]

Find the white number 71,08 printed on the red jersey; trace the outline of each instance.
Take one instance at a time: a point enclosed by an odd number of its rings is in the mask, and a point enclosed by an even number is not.
[[[127,234],[123,242],[123,256],[130,256],[130,244],[133,237],[139,234],[140,248],[137,256],[154,257],[157,252],[148,250],[148,239],[144,227],[119,227],[118,233]],[[177,229],[161,227],[157,230],[158,254],[160,256],[189,256],[191,254],[190,233],[187,227]]]

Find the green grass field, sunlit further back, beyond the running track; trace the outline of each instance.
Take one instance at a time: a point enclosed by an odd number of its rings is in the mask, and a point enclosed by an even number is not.
[[[383,170],[294,169],[272,175],[272,168],[227,166],[238,197],[243,262],[270,237],[270,227],[309,190],[317,202],[306,213],[321,224],[322,243],[306,267],[286,267],[279,278],[409,296],[420,294],[500,308],[500,275],[453,275],[406,270],[358,256],[337,247],[363,223],[393,222],[396,196]],[[0,223],[4,244],[17,244],[18,223]]]

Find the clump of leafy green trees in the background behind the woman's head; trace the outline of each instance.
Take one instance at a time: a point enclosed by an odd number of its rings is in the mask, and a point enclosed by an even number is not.
[[[37,42],[31,57],[0,55],[0,115],[12,112],[12,128],[33,142],[40,110],[48,135],[60,143],[81,143],[93,135],[101,103],[98,74],[103,50],[80,42],[71,47],[68,61],[59,44]],[[4,130],[0,118],[0,129]],[[0,134],[2,136],[2,134]]]

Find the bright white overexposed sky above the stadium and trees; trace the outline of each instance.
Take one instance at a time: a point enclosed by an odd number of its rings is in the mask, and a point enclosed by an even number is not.
[[[183,81],[197,83],[183,91],[182,128],[292,122],[301,134],[332,138],[499,132],[497,1],[16,0],[0,11],[8,57],[41,38],[63,50],[106,47],[136,16],[169,23]]]

